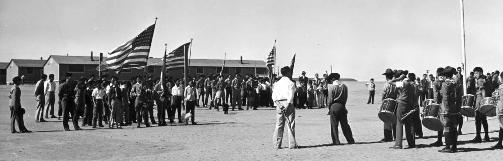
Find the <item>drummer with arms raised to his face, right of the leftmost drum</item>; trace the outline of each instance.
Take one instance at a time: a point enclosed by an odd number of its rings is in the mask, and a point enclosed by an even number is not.
[[[396,109],[396,139],[395,145],[389,148],[402,148],[402,135],[403,135],[403,124],[405,124],[405,137],[407,138],[408,147],[413,148],[415,146],[414,140],[414,126],[412,124],[412,117],[403,115],[412,110],[412,101],[414,97],[414,87],[411,82],[407,79],[406,75],[408,71],[398,70],[396,75],[398,78],[388,81],[389,84],[396,86],[399,91],[398,96],[398,107]]]

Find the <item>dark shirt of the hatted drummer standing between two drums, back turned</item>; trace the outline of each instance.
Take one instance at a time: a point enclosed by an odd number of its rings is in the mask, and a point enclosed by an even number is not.
[[[457,113],[461,109],[456,106],[456,82],[453,79],[446,79],[442,83],[442,108],[444,111],[449,111],[450,113]],[[444,113],[444,112],[441,112]]]

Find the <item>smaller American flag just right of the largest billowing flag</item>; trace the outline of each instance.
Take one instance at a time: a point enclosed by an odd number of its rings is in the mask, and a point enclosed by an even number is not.
[[[166,70],[184,69],[190,45],[190,42],[186,43],[166,55]]]

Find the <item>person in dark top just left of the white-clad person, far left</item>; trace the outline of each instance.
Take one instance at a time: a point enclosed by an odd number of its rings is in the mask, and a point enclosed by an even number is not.
[[[42,74],[40,80],[35,84],[35,100],[37,101],[37,109],[35,111],[35,122],[47,122],[44,120],[44,82],[47,80],[47,75]]]

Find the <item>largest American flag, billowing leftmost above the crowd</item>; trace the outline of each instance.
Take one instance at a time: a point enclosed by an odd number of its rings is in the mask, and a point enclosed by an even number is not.
[[[155,24],[145,29],[132,40],[109,52],[106,65],[118,74],[122,69],[146,66],[154,28]]]

